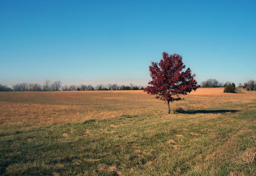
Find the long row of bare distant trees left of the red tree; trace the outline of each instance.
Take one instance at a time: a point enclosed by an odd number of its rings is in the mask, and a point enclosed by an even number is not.
[[[51,82],[50,80],[46,80],[43,85],[37,83],[17,83],[13,84],[12,87],[8,87],[7,85],[0,84],[1,92],[9,92],[9,91],[75,91],[75,90],[143,90],[143,86],[136,86],[132,83],[129,86],[118,84],[99,84],[97,86],[80,84],[79,86],[71,85],[67,86],[61,85],[60,81]]]

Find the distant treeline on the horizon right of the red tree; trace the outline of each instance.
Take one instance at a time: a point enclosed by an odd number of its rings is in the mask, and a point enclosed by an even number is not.
[[[232,85],[236,87],[235,84],[230,81],[226,81],[224,83],[224,82],[219,82],[215,79],[208,79],[206,81],[202,81],[200,87],[226,87],[228,85]],[[239,83],[238,87],[243,87],[243,88],[246,88],[247,90],[256,90],[256,81],[249,80],[245,82],[244,85],[242,85],[242,83]]]

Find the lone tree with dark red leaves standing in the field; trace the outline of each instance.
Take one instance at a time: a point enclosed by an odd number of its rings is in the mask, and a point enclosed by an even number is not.
[[[170,113],[170,102],[183,100],[180,95],[187,95],[196,90],[197,82],[195,74],[191,74],[190,68],[185,71],[182,56],[178,54],[169,55],[163,52],[163,59],[159,63],[151,62],[149,66],[152,81],[149,81],[144,91],[156,95],[156,99],[167,102],[168,114]]]

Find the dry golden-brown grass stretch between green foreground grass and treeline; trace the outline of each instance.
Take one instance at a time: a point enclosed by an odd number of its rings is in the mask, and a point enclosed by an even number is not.
[[[255,92],[223,93],[223,88],[199,88],[185,100],[171,104],[175,110],[208,109],[256,99]],[[227,101],[228,100],[228,101]],[[239,109],[241,107],[237,107]],[[243,107],[255,109],[254,105]],[[121,115],[162,115],[163,101],[142,90],[74,92],[0,92],[0,120],[11,125],[49,125],[107,119]],[[214,117],[217,114],[212,114]]]

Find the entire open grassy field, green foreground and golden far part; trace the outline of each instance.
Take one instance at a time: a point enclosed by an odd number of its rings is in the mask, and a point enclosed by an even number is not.
[[[255,175],[256,92],[0,92],[0,175]]]

